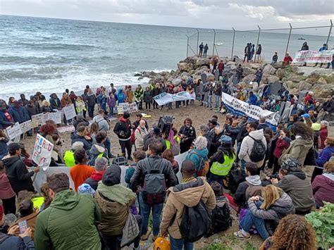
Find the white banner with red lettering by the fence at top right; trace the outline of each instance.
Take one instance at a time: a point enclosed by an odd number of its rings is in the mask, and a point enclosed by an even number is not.
[[[330,63],[334,49],[325,51],[297,51],[292,63]]]

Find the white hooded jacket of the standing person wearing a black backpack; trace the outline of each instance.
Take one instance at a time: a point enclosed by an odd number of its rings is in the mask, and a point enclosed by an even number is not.
[[[251,131],[249,133],[249,135],[251,137],[253,137],[254,139],[261,139],[262,142],[264,143],[264,146],[266,146],[266,148],[267,148],[266,137],[264,137],[264,130],[263,129]],[[240,146],[240,152],[239,152],[240,160],[243,159],[246,162],[252,162],[251,159],[249,158],[249,156],[250,156],[250,154],[252,154],[252,149],[253,149],[253,145],[254,145],[254,139],[249,137],[249,135],[247,135],[247,137],[245,137],[242,140],[242,143],[241,143],[241,146]],[[259,168],[261,168],[261,166],[263,164],[264,164],[264,159],[262,161],[256,162],[256,165]]]

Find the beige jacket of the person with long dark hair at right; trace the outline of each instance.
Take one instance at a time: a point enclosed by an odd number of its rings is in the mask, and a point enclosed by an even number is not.
[[[278,163],[283,163],[286,158],[296,158],[299,164],[303,166],[307,153],[312,146],[312,138],[303,139],[297,135],[296,139],[290,142],[290,146],[287,148],[287,150],[283,151],[283,154],[280,156]]]

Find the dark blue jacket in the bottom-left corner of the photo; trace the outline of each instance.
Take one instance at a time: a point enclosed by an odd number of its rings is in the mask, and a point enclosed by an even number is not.
[[[14,235],[5,235],[4,233],[1,232],[0,239],[4,239],[0,243],[0,249],[13,249],[13,250],[35,249],[34,242],[29,236],[21,238]]]

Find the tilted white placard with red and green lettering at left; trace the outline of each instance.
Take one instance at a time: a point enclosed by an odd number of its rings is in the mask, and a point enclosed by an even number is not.
[[[47,170],[51,163],[53,149],[54,144],[42,137],[42,135],[37,134],[34,153],[32,153],[32,161],[35,161],[44,171]]]

